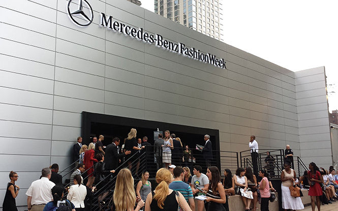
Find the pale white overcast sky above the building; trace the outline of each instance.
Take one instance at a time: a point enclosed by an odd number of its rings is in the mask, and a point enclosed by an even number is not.
[[[141,7],[153,12],[153,2]],[[337,0],[220,2],[225,43],[291,71],[325,66],[329,111],[338,109]]]

